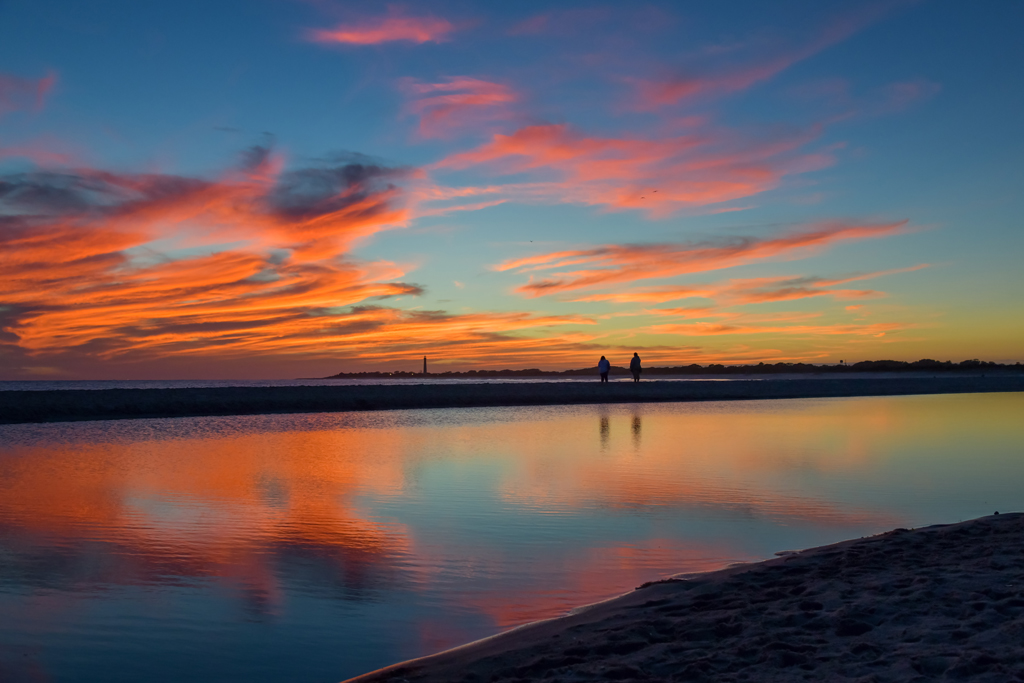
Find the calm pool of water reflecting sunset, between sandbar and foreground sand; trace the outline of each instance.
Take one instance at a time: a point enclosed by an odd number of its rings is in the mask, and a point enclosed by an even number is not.
[[[1024,509],[1024,394],[0,427],[0,680],[337,681]]]

